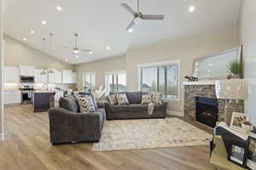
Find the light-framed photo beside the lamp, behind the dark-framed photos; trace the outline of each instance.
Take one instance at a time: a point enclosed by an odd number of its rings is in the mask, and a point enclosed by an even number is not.
[[[230,128],[236,131],[239,131],[241,133],[246,133],[247,129],[244,129],[246,125],[243,125],[243,124],[245,124],[246,122],[249,122],[249,119],[250,119],[250,116],[247,114],[233,112],[231,122],[230,122]],[[250,130],[252,129],[249,129],[248,131]]]

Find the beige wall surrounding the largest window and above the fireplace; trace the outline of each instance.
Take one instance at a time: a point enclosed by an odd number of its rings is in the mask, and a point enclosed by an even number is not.
[[[126,55],[127,83],[130,90],[137,89],[137,65],[181,59],[181,82],[191,75],[193,61],[206,54],[213,54],[239,45],[238,26],[201,33],[183,39],[160,42],[145,48],[129,50]],[[182,84],[182,83],[181,83]],[[168,111],[183,112],[183,86],[179,102],[171,102]]]

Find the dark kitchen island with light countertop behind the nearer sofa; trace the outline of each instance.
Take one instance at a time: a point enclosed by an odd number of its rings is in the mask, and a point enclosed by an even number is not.
[[[55,107],[55,91],[35,90],[32,92],[32,109],[34,112],[48,111]]]

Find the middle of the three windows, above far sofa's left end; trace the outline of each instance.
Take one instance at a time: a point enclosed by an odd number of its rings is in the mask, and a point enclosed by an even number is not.
[[[107,94],[119,93],[126,90],[126,74],[125,71],[108,73],[106,75]]]

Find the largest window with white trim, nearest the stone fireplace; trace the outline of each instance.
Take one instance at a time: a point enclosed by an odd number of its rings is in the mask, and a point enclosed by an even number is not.
[[[138,66],[140,90],[163,94],[163,99],[179,99],[179,61]]]

